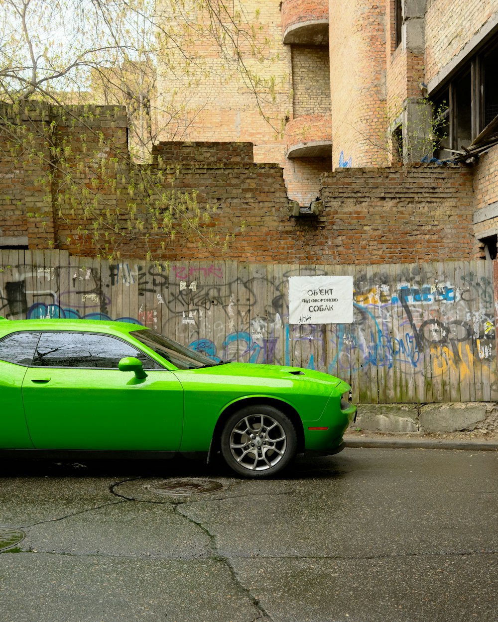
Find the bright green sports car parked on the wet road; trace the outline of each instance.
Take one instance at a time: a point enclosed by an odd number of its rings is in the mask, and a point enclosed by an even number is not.
[[[0,457],[221,452],[262,478],[341,451],[350,396],[329,374],[218,363],[137,324],[0,319]]]

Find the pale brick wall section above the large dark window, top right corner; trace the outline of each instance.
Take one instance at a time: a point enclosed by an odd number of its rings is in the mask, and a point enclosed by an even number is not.
[[[464,49],[497,10],[497,0],[428,0],[425,19],[427,83]]]

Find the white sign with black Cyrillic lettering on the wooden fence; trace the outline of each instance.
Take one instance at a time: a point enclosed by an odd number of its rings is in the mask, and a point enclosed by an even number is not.
[[[290,324],[350,324],[352,322],[352,276],[289,277]]]

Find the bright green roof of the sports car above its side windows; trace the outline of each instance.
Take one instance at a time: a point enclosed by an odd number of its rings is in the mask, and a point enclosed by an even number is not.
[[[5,330],[7,329],[7,330]],[[129,333],[132,330],[149,330],[141,324],[128,322],[112,322],[111,320],[5,320],[0,318],[0,333],[12,333],[19,330],[68,330],[93,333]]]

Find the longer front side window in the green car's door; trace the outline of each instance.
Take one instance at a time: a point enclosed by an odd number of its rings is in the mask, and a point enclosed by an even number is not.
[[[133,346],[101,333],[42,333],[33,365],[118,369],[125,356],[134,356],[144,369],[162,369],[155,361]]]

